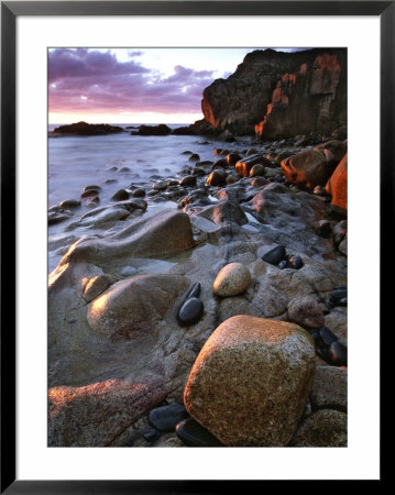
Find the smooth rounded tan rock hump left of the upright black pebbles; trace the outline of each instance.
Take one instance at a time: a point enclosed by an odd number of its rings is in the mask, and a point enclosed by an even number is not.
[[[120,280],[88,306],[88,323],[97,334],[112,341],[153,333],[188,285],[187,278],[172,274]]]

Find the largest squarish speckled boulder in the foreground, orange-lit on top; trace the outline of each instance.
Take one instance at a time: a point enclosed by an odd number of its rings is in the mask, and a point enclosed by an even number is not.
[[[285,446],[306,405],[314,356],[310,337],[296,324],[232,317],[201,349],[184,404],[226,446]]]

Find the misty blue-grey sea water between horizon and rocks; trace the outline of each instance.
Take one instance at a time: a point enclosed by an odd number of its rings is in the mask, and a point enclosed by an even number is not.
[[[140,124],[118,125],[125,128]],[[180,125],[185,124],[169,127],[174,129]],[[249,146],[249,141],[242,144],[240,141],[208,142],[204,136],[195,135],[140,136],[131,135],[130,130],[125,133],[99,136],[62,134],[51,136],[55,127],[51,125],[48,129],[48,208],[66,199],[79,200],[85,186],[88,185],[101,187],[98,206],[106,206],[121,188],[133,185],[150,190],[152,184],[160,178],[179,179],[180,169],[193,164],[188,161],[189,155],[183,154],[184,151],[197,153],[201,161],[215,161],[216,147],[234,150],[243,145]],[[114,182],[109,184],[108,179]],[[144,199],[149,204],[147,213],[162,208],[176,208],[173,201],[155,202],[146,196]],[[51,241],[67,232],[70,222],[75,222],[91,209],[85,205],[85,200],[81,202],[81,207],[75,210],[70,220],[48,227],[50,245]],[[86,228],[77,228],[70,232],[76,238],[95,233],[95,230]],[[50,249],[50,271],[56,266],[61,257],[62,249],[56,251]]]

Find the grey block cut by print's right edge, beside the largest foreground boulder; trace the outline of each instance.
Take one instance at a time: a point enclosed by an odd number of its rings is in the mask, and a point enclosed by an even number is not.
[[[310,400],[315,409],[347,413],[348,373],[336,366],[317,366]]]

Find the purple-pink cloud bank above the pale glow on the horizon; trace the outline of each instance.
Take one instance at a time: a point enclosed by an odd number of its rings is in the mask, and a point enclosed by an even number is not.
[[[130,52],[139,56],[141,52]],[[177,65],[163,78],[130,59],[87,48],[57,48],[48,53],[51,112],[200,111],[202,90],[212,82],[212,70]]]

